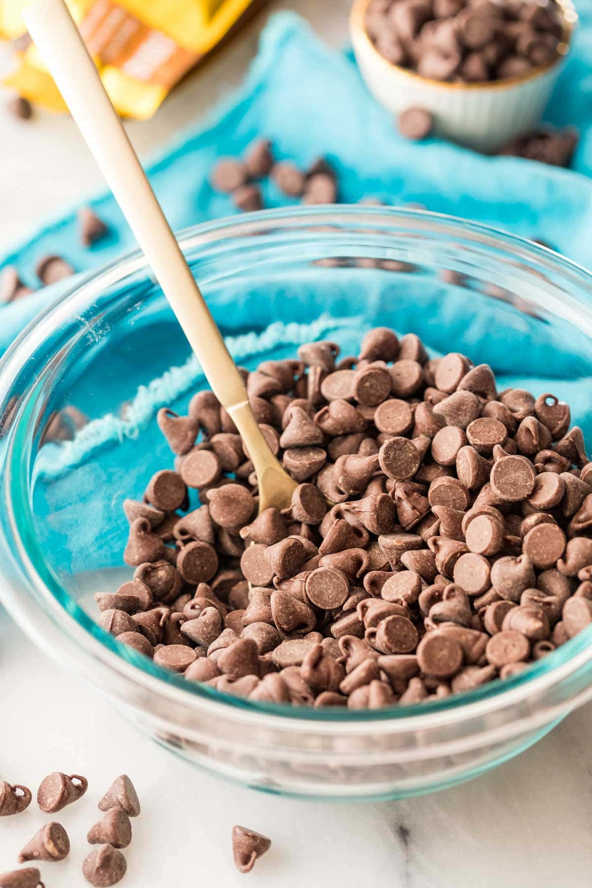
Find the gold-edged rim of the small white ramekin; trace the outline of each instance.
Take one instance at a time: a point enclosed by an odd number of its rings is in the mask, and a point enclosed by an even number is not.
[[[530,80],[534,80],[541,75],[548,74],[552,68],[561,65],[564,62],[564,59],[571,48],[573,31],[577,28],[579,22],[579,16],[572,0],[556,0],[556,4],[561,8],[564,20],[564,32],[561,43],[557,46],[556,59],[551,59],[545,65],[534,67],[532,70],[526,71],[525,74],[517,75],[516,77],[508,77],[505,80],[492,80],[485,81],[484,83],[449,83],[448,81],[433,80],[430,77],[423,77],[407,67],[395,65],[393,62],[385,59],[384,56],[378,52],[375,44],[373,44],[367,33],[364,22],[367,6],[371,2],[372,0],[354,0],[351,7],[350,36],[354,50],[357,52],[366,52],[370,55],[375,64],[380,64],[383,67],[385,75],[397,74],[402,77],[408,77],[414,83],[422,83],[424,85],[429,84],[431,87],[442,91],[453,90],[456,92],[474,92],[509,90],[513,87],[520,86],[522,83],[528,83]]]

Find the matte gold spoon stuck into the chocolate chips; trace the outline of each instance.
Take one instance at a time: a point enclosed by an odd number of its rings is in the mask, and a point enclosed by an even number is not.
[[[66,4],[63,0],[33,0],[23,12],[23,19],[197,355],[212,391],[241,433],[257,474],[259,511],[270,506],[288,508],[296,481],[284,472],[264,439],[241,374],[179,250]]]

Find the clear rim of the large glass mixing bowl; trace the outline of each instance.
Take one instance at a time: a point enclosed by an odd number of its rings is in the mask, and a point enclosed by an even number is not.
[[[462,218],[432,213],[428,210],[404,210],[394,207],[370,206],[360,204],[339,204],[327,206],[302,206],[286,207],[278,210],[260,210],[253,213],[242,214],[240,218],[226,217],[210,222],[204,222],[197,226],[186,228],[177,234],[178,241],[183,250],[193,250],[200,246],[221,242],[230,238],[241,238],[257,234],[274,234],[280,223],[280,232],[297,231],[298,227],[310,227],[330,224],[331,222],[343,223],[353,221],[367,225],[368,233],[371,226],[376,226],[383,221],[385,224],[399,221],[414,228],[426,228],[427,226],[439,226],[436,230],[444,229],[454,239],[454,233],[466,237],[473,234],[475,240],[486,245],[494,245],[513,248],[519,258],[525,258],[525,253],[533,259],[544,259],[553,268],[560,267],[564,271],[570,271],[583,278],[590,290],[591,307],[588,312],[592,321],[592,274],[582,266],[570,259],[549,250],[534,242],[517,235],[508,234],[497,230],[492,226],[481,225]],[[413,225],[412,225],[413,224]],[[339,235],[340,229],[334,233]],[[4,377],[7,369],[12,365],[12,372],[22,369],[23,361],[27,361],[28,355],[34,353],[36,346],[43,343],[44,338],[55,329],[64,319],[70,321],[77,315],[78,320],[82,313],[83,305],[100,296],[106,286],[111,286],[117,281],[124,281],[130,274],[146,270],[150,274],[146,260],[139,250],[132,250],[121,258],[115,259],[107,266],[99,268],[96,272],[86,275],[82,281],[77,282],[66,294],[59,297],[51,305],[28,324],[20,337],[4,354],[0,361],[0,378]],[[71,309],[74,306],[74,314]],[[96,310],[100,314],[99,309]],[[93,315],[96,319],[97,313]],[[591,328],[592,329],[592,328]],[[45,363],[45,367],[51,363],[51,358]],[[171,702],[182,702],[185,706],[196,710],[209,710],[225,715],[233,714],[238,719],[249,719],[257,712],[261,716],[261,723],[267,718],[269,723],[276,726],[288,727],[290,730],[306,731],[313,728],[320,732],[332,732],[338,727],[339,732],[359,733],[366,727],[375,733],[400,733],[416,730],[418,727],[428,727],[460,720],[469,721],[470,718],[478,718],[492,710],[500,710],[507,706],[513,706],[536,691],[542,691],[554,685],[557,681],[571,675],[592,660],[592,626],[580,632],[578,636],[570,639],[552,654],[540,661],[529,665],[525,672],[506,679],[496,679],[484,686],[480,686],[461,694],[452,694],[442,700],[428,703],[407,705],[399,707],[395,704],[383,710],[349,710],[335,707],[314,710],[309,707],[295,707],[286,704],[272,704],[264,702],[251,702],[231,694],[223,694],[214,688],[203,686],[197,682],[186,682],[183,676],[171,674],[138,654],[117,642],[116,639],[102,630],[99,625],[71,599],[64,588],[57,583],[51,569],[46,571],[43,577],[37,570],[37,562],[34,562],[28,551],[28,543],[35,548],[34,537],[21,532],[27,526],[27,520],[31,517],[31,511],[22,512],[15,510],[14,503],[22,494],[20,488],[23,481],[23,463],[21,456],[25,452],[22,445],[27,443],[28,426],[25,423],[24,414],[28,401],[35,392],[34,386],[30,386],[27,396],[23,398],[12,417],[10,428],[6,432],[6,460],[5,471],[2,477],[4,505],[8,522],[12,531],[13,542],[19,551],[22,563],[27,568],[28,586],[36,591],[36,604],[43,603],[43,616],[47,618],[46,625],[59,621],[59,631],[65,634],[69,630],[68,641],[72,642],[78,650],[83,646],[83,653],[88,660],[100,662],[103,672],[119,673],[131,682],[133,688],[138,686],[151,694],[158,694],[161,698],[167,698]],[[15,468],[19,471],[10,471]],[[6,471],[8,470],[8,471]],[[25,484],[25,487],[27,485]],[[26,499],[26,497],[25,497]],[[22,500],[21,500],[22,502]],[[28,504],[27,504],[28,505]],[[36,547],[41,560],[44,563],[43,551]],[[0,584],[0,599],[4,600],[9,612],[11,612],[22,628],[33,638],[38,646],[44,647],[55,656],[55,651],[43,636],[41,622],[32,619],[32,614],[19,600],[19,596],[11,594],[9,584]],[[38,616],[39,614],[36,614]],[[64,626],[67,627],[67,629]],[[87,673],[87,678],[93,680]],[[96,681],[95,684],[98,684]],[[100,686],[100,685],[99,685]],[[462,717],[462,718],[461,718]]]

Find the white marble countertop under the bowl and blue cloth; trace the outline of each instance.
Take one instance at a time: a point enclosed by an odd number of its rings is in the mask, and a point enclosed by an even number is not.
[[[309,18],[335,45],[347,35],[349,0],[272,3]],[[130,123],[146,160],[244,74],[266,15],[190,76],[149,123]],[[5,59],[4,59],[5,62]],[[99,188],[74,124],[39,114],[12,120],[0,108],[0,252],[33,224]],[[125,854],[130,888],[245,884],[233,869],[230,832],[244,823],[272,837],[249,884],[261,888],[584,888],[592,872],[592,704],[501,768],[430,797],[380,805],[297,802],[238,789],[158,749],[105,697],[47,660],[0,614],[0,779],[36,789],[45,773],[83,773],[86,797],[60,813],[68,860],[46,864],[47,888],[81,888],[86,830],[118,773],[130,773],[144,813]],[[31,805],[0,821],[0,872],[43,824]]]

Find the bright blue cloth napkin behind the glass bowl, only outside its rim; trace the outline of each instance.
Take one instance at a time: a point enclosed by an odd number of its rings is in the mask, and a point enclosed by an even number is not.
[[[241,89],[209,121],[186,133],[148,168],[154,191],[175,230],[234,212],[209,184],[217,158],[240,155],[252,139],[272,139],[276,155],[305,167],[326,155],[339,177],[340,202],[374,196],[388,203],[421,202],[429,210],[476,219],[514,234],[542,238],[583,265],[592,265],[592,7],[580,4],[580,28],[550,101],[546,119],[580,127],[572,170],[510,157],[485,157],[439,139],[422,144],[399,136],[391,115],[368,94],[347,54],[328,49],[290,12],[269,22]],[[266,206],[288,199],[272,182]],[[76,209],[51,221],[4,257],[26,283],[58,253],[78,272],[90,271],[135,246],[111,194],[91,201],[109,225],[91,250],[79,243]],[[3,306],[0,353],[20,329],[72,280]]]

